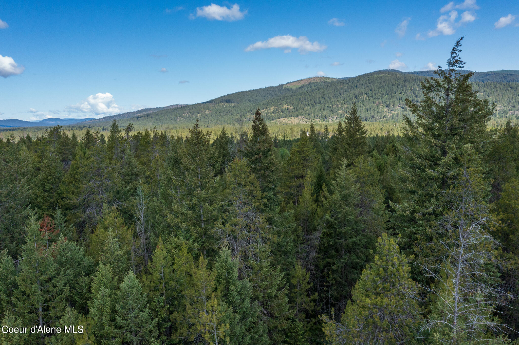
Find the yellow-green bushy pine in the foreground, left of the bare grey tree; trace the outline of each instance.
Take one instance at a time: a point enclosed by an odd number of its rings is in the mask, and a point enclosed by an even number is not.
[[[372,264],[352,290],[352,300],[336,322],[323,317],[331,344],[413,344],[420,326],[419,289],[409,278],[412,257],[400,253],[397,241],[378,238]]]

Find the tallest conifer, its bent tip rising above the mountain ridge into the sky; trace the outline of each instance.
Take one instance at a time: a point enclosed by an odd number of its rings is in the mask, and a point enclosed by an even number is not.
[[[426,253],[418,252],[416,246],[431,241],[428,228],[446,211],[440,196],[456,181],[452,171],[462,164],[463,147],[472,144],[476,152],[482,151],[486,122],[493,113],[488,100],[472,91],[469,79],[473,73],[458,71],[465,66],[458,54],[461,40],[450,52],[447,68],[434,72],[438,78],[421,83],[421,102],[406,100],[416,120],[404,116],[400,183],[406,201],[393,205],[392,221],[402,235],[404,250],[416,253],[417,258]]]

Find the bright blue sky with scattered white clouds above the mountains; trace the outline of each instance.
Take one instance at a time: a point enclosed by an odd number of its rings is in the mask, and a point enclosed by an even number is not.
[[[0,119],[102,117],[392,66],[519,69],[519,1],[0,2]],[[3,77],[3,78],[2,78]]]

